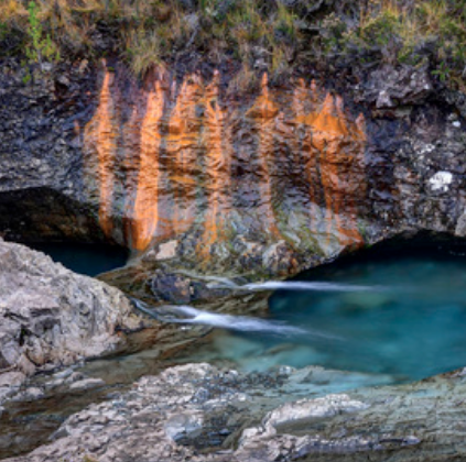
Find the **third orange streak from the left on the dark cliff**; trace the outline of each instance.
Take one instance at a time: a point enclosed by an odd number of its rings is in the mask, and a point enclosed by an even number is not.
[[[172,226],[175,234],[187,231],[194,221],[196,170],[201,120],[196,106],[202,99],[197,76],[186,78],[167,121],[166,150],[172,158],[171,182],[174,190]]]

